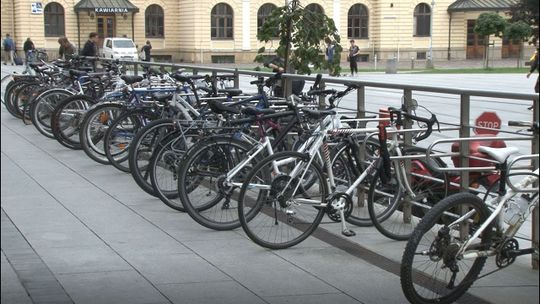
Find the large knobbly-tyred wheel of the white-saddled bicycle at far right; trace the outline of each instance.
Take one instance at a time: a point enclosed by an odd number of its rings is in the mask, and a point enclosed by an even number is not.
[[[469,289],[486,257],[456,254],[488,216],[487,206],[470,193],[451,195],[430,209],[407,242],[401,261],[401,288],[411,303],[453,303]],[[492,236],[488,227],[464,254],[489,249]]]

